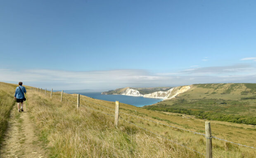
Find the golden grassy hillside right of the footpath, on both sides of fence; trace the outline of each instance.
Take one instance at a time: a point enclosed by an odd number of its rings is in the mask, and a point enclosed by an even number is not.
[[[6,84],[12,87],[9,84]],[[114,118],[85,108],[84,105],[104,113],[114,111],[96,106],[100,104],[114,109],[109,101],[81,96],[81,107],[76,110],[76,95],[64,94],[60,103],[60,93],[55,92],[50,99],[44,93],[28,91],[28,108],[31,119],[37,127],[38,136],[45,142],[52,157],[179,157],[203,158],[197,153],[184,149],[170,141],[145,132],[140,128],[119,121],[119,128],[113,126]],[[87,101],[91,101],[89,103]],[[191,116],[149,111],[127,104],[120,104],[120,111],[158,121],[168,125],[204,133],[204,120]],[[205,138],[193,133],[180,131],[164,125],[151,123],[120,113],[120,118],[140,125],[173,141],[204,153]],[[250,125],[211,121],[212,134],[216,137],[256,146],[256,128]],[[213,139],[213,156],[216,158],[253,158],[255,149],[239,147]]]

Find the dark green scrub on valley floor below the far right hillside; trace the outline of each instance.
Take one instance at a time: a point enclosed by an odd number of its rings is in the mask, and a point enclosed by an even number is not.
[[[184,113],[194,115],[201,119],[256,125],[256,117],[236,115],[238,112],[245,111],[244,106],[248,105],[248,103],[223,99],[194,99],[192,101],[175,99],[175,101],[172,101],[172,105],[168,105],[168,101],[162,101],[157,105],[146,106],[145,108],[157,111]],[[253,112],[255,113],[255,110]]]

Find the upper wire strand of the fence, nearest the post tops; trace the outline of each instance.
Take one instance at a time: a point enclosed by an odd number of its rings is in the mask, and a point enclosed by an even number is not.
[[[70,95],[70,96],[76,97],[76,96],[73,96],[73,95]],[[87,100],[85,100],[85,99],[81,99],[81,100],[87,101]],[[95,104],[95,103],[93,103],[93,102],[91,102],[91,101],[87,101],[87,102],[89,102],[89,103],[91,103],[91,104]],[[111,111],[115,111],[114,109],[108,108],[108,107],[106,107],[106,106],[102,106],[102,105],[99,105],[99,104],[95,104],[95,105],[101,106],[101,107],[104,107],[104,108],[107,108],[107,109],[109,109],[109,110],[111,110]],[[86,107],[87,107],[87,106],[86,106]],[[101,111],[99,111],[99,112],[101,112]],[[102,113],[103,113],[103,112],[102,112]],[[168,127],[173,127],[173,128],[179,129],[179,130],[184,130],[184,131],[187,131],[187,132],[192,132],[192,133],[194,133],[194,134],[203,135],[203,136],[205,137],[205,134],[203,134],[203,133],[194,132],[194,131],[191,131],[191,130],[185,130],[185,129],[180,128],[180,127],[175,127],[175,126],[167,125],[167,124],[164,124],[164,123],[156,122],[156,121],[153,121],[153,120],[149,120],[149,119],[142,118],[142,117],[139,117],[139,116],[131,115],[131,114],[124,113],[124,112],[121,112],[121,111],[120,111],[120,113],[129,115],[129,116],[133,116],[133,117],[136,117],[136,118],[140,118],[140,119],[143,119],[143,120],[147,120],[147,121],[150,121],[150,122],[153,122],[153,123],[158,123],[158,124],[161,124],[161,125],[166,125],[166,126],[168,126]],[[120,118],[120,119],[122,119],[122,118]],[[149,132],[150,132],[150,131],[149,131]],[[162,137],[162,136],[161,136],[161,137]],[[253,146],[247,146],[247,145],[235,143],[235,142],[228,141],[228,140],[225,140],[225,139],[221,139],[221,138],[218,138],[218,137],[215,137],[215,136],[212,136],[212,138],[215,138],[215,139],[218,139],[218,140],[221,140],[221,141],[226,141],[226,142],[229,142],[229,143],[231,143],[231,144],[236,144],[236,145],[239,145],[239,146],[244,146],[244,147],[248,147],[248,148],[251,148],[251,149],[256,149],[256,148],[253,147]]]

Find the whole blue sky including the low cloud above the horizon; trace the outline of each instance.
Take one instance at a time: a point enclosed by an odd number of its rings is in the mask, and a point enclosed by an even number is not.
[[[0,82],[256,83],[256,1],[0,0]]]

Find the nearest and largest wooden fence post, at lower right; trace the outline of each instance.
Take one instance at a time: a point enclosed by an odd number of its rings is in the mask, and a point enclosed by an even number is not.
[[[212,143],[211,143],[211,124],[210,122],[205,122],[205,137],[206,137],[206,158],[212,158]]]

